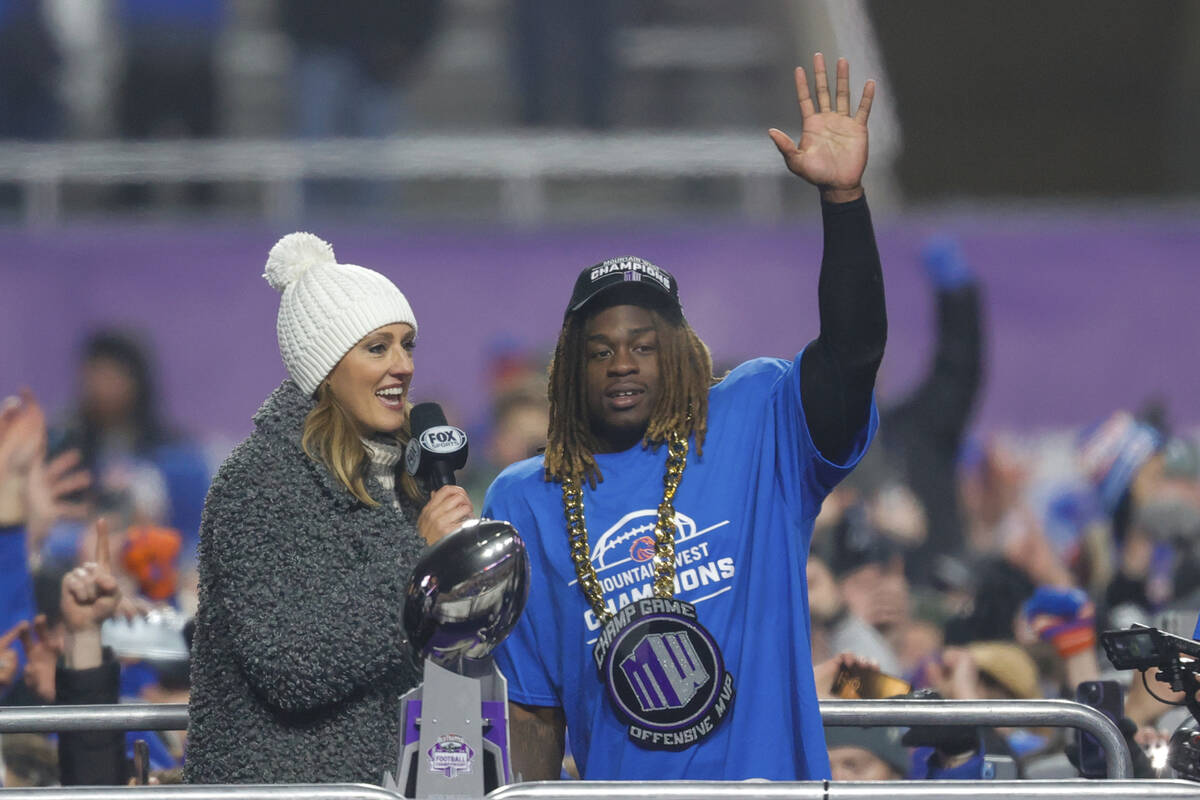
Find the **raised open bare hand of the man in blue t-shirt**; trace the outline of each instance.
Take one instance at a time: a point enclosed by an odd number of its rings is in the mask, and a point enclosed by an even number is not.
[[[838,59],[836,103],[829,98],[824,56],[812,56],[816,104],[809,94],[804,67],[796,68],[796,96],[800,106],[800,140],[796,143],[779,128],[768,131],[787,168],[818,187],[832,203],[847,203],[863,196],[866,169],[866,119],[875,98],[875,82],[868,80],[858,110],[850,114],[850,62]]]

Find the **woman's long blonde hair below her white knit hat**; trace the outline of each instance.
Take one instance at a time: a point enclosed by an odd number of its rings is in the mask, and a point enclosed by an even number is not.
[[[406,402],[404,407],[412,410],[412,403]],[[406,420],[404,426],[396,432],[396,444],[403,447],[410,435]],[[328,383],[317,387],[317,405],[305,417],[300,445],[310,458],[324,464],[350,494],[368,506],[379,505],[379,501],[367,493],[366,476],[371,457],[359,437],[354,420],[337,402]],[[396,487],[414,503],[425,499],[425,493],[408,470],[400,470]]]

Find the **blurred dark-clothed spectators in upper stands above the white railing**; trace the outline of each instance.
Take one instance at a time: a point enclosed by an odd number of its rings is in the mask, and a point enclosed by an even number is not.
[[[444,5],[254,4],[256,24],[262,17],[278,35],[269,43],[286,47],[290,113],[281,132],[316,139],[404,130],[406,88],[443,26]],[[222,60],[247,8],[230,0],[0,0],[0,139],[228,136]],[[518,0],[505,13],[512,121],[607,127],[613,4]],[[112,72],[90,90],[104,94],[102,102],[85,100],[72,77],[97,71]],[[88,107],[106,119],[83,121]]]

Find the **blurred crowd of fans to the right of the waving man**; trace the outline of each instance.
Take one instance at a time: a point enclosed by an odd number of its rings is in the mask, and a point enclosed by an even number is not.
[[[1114,670],[1097,634],[1134,622],[1193,634],[1196,444],[1152,401],[1068,435],[973,435],[983,289],[953,242],[931,242],[925,263],[937,296],[930,371],[881,402],[880,438],[817,518],[818,691],[1079,699],[1121,724],[1139,776],[1169,775],[1165,741],[1188,715],[1168,703],[1181,696],[1153,674],[1147,687]],[[871,690],[880,680],[864,673],[901,680]],[[834,780],[1105,774],[1094,742],[1052,728],[830,729],[828,744]]]

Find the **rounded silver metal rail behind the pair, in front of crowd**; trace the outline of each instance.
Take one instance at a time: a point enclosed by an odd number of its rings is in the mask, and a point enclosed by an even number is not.
[[[1069,700],[822,700],[826,727],[982,724],[1078,728],[1100,742],[1109,778],[1133,776],[1121,730],[1096,709]],[[181,730],[187,706],[48,705],[0,708],[0,734],[55,730]]]

